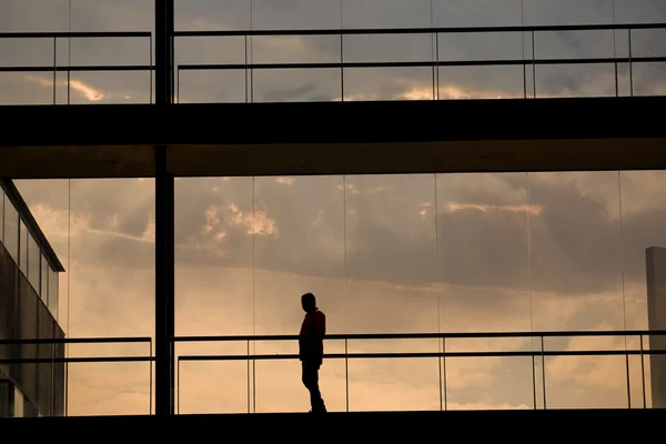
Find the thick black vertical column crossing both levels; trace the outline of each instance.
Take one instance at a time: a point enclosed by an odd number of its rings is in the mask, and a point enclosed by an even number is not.
[[[173,102],[173,0],[155,0],[155,110]],[[161,109],[161,110],[160,110]],[[155,414],[174,413],[173,174],[168,148],[155,147]]]

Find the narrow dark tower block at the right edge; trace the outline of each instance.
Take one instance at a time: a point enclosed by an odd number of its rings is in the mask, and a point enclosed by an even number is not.
[[[647,323],[650,331],[666,330],[666,249],[645,251],[647,274]],[[666,351],[666,337],[650,336],[649,349]],[[652,404],[666,408],[666,355],[649,356]]]

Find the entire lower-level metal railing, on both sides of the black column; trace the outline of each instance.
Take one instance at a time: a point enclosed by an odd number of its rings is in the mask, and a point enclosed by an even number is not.
[[[345,379],[345,410],[350,411],[350,360],[375,360],[375,359],[436,359],[438,365],[438,395],[440,410],[446,411],[447,407],[447,381],[446,366],[447,360],[460,357],[528,357],[532,360],[532,395],[533,407],[537,408],[537,396],[543,397],[543,408],[547,408],[547,381],[545,372],[546,357],[556,356],[625,356],[626,367],[626,391],[627,391],[627,408],[632,408],[632,383],[629,377],[629,356],[639,356],[640,359],[640,392],[643,408],[647,408],[646,396],[646,376],[645,376],[645,357],[652,355],[665,355],[666,350],[649,350],[645,346],[645,337],[664,336],[666,331],[558,331],[558,332],[502,332],[502,333],[405,333],[405,334],[330,334],[325,336],[325,341],[343,341],[344,353],[326,353],[325,360],[343,360],[344,361],[344,379]],[[625,346],[623,349],[612,350],[548,350],[545,345],[547,339],[571,339],[571,337],[624,337]],[[637,337],[638,345],[629,346],[626,344],[627,337]],[[524,339],[532,340],[531,350],[516,351],[451,351],[452,340],[507,340],[507,339]],[[174,356],[176,371],[176,413],[180,414],[181,402],[181,364],[184,362],[246,362],[246,390],[248,390],[248,413],[256,410],[256,372],[255,365],[258,361],[294,361],[299,360],[299,355],[294,353],[270,353],[270,354],[253,354],[251,353],[251,344],[256,342],[295,342],[297,335],[232,335],[232,336],[175,336],[171,339],[172,344],[178,343],[203,343],[203,342],[222,342],[222,343],[245,343],[246,354],[191,354]],[[395,352],[395,353],[351,353],[350,345],[352,341],[386,341],[386,340],[436,340],[436,352]],[[536,340],[536,347],[534,346]],[[450,341],[447,345],[447,341]],[[54,346],[58,344],[121,344],[121,343],[148,343],[150,347],[149,355],[139,356],[56,356]],[[20,365],[20,364],[50,364],[51,374],[56,364],[69,363],[113,363],[113,362],[148,362],[149,363],[149,414],[152,414],[153,408],[153,345],[151,337],[77,337],[77,339],[39,339],[39,340],[1,340],[0,351],[2,346],[11,345],[51,345],[50,357],[18,357],[18,359],[0,359],[0,365]],[[541,364],[541,375],[537,373],[537,364]],[[541,376],[541,377],[539,377]],[[541,387],[537,387],[539,380]],[[52,381],[53,384],[53,381]],[[65,376],[67,384],[67,376]],[[541,389],[542,393],[538,393]],[[67,392],[67,389],[65,389]],[[65,396],[67,398],[68,396]]]

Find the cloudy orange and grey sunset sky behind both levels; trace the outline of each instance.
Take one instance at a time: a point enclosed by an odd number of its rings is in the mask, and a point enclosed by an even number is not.
[[[659,21],[660,1],[178,1],[178,29],[427,27]],[[4,0],[0,30],[152,30],[152,1]],[[432,11],[432,13],[431,13]],[[342,17],[342,22],[341,22]],[[626,36],[624,36],[626,37]],[[616,37],[619,56],[624,37]],[[659,40],[660,39],[660,40]],[[635,56],[664,56],[660,34]],[[531,44],[526,40],[526,44]],[[515,36],[450,36],[441,60],[521,58]],[[537,57],[612,56],[613,33],[537,38]],[[347,60],[432,60],[423,36],[345,38]],[[21,50],[17,50],[21,48]],[[178,63],[243,62],[244,41],[178,42]],[[659,53],[660,51],[660,53]],[[67,41],[59,64],[148,63],[147,41]],[[254,62],[340,58],[334,38],[253,39]],[[2,64],[50,64],[51,42],[0,42]],[[662,68],[635,67],[635,92],[658,93]],[[255,72],[253,100],[336,100],[340,72]],[[511,72],[509,72],[511,71]],[[620,69],[620,93],[628,92]],[[234,77],[235,75],[235,77]],[[523,94],[521,69],[442,70],[441,98]],[[531,72],[528,78],[531,78]],[[541,68],[537,93],[612,94],[613,68]],[[639,81],[638,81],[639,80]],[[57,102],[67,103],[64,75]],[[432,99],[432,71],[345,73],[345,99]],[[144,73],[72,74],[72,103],[144,102]],[[0,103],[51,103],[52,77],[0,73]],[[533,91],[529,84],[529,91]],[[181,101],[244,101],[244,72],[181,75]],[[624,91],[624,92],[623,92]],[[431,94],[430,97],[427,94]],[[662,172],[211,178],[176,182],[176,334],[296,333],[299,296],[314,292],[331,333],[646,329],[645,249],[666,246]],[[151,180],[19,181],[68,272],[60,320],[69,336],[154,333]],[[629,346],[633,346],[629,343]],[[447,350],[526,350],[528,341],[448,341]],[[583,350],[612,340],[551,341]],[[436,351],[432,341],[352,343],[351,351]],[[246,344],[180,344],[178,353],[246,353]],[[287,353],[295,344],[256,344]],[[327,351],[343,351],[331,343]],[[145,354],[148,346],[71,347],[71,355]],[[630,363],[632,404],[643,404]],[[536,364],[537,375],[543,371]],[[546,360],[548,407],[626,406],[623,357]],[[532,361],[447,360],[448,408],[532,408]],[[331,410],[345,408],[344,362],[322,369]],[[181,364],[182,413],[244,412],[248,366]],[[306,411],[297,363],[260,362],[258,412]],[[440,407],[440,365],[367,360],[349,366],[352,410]],[[539,377],[537,377],[539,381]],[[648,385],[649,387],[649,385]],[[543,387],[537,382],[537,406]],[[70,414],[148,413],[147,364],[72,364]]]

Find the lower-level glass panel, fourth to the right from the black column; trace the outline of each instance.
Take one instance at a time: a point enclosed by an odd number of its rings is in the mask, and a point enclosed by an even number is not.
[[[528,332],[525,174],[437,175],[440,326],[443,332]],[[447,352],[522,352],[529,339],[447,340]],[[532,360],[454,357],[447,410],[533,408]]]

